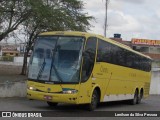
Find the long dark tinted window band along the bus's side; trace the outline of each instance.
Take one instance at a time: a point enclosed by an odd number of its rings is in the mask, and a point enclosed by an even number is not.
[[[107,62],[143,71],[151,70],[149,59],[100,39],[98,40],[97,62]]]

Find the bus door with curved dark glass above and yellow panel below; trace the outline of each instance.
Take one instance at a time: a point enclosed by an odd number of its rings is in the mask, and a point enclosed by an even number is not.
[[[97,38],[88,38],[83,52],[79,103],[88,103],[91,98],[92,72],[95,64]]]

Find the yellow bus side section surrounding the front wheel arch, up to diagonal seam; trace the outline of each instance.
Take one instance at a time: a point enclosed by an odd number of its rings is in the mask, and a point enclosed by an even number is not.
[[[78,95],[79,104],[90,103],[92,91],[96,85],[100,89],[100,101],[103,101],[110,76],[111,73],[108,72],[106,63],[95,63],[90,78],[80,84]]]

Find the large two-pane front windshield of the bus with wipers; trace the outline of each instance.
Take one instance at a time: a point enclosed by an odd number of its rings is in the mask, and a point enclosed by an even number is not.
[[[79,82],[83,43],[84,37],[38,37],[29,63],[28,78],[49,82]]]

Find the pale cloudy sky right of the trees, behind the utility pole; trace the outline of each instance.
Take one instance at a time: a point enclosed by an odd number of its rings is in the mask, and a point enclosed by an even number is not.
[[[104,35],[105,0],[82,0],[84,12],[95,17],[88,32]],[[160,0],[109,0],[107,37],[160,40]]]

